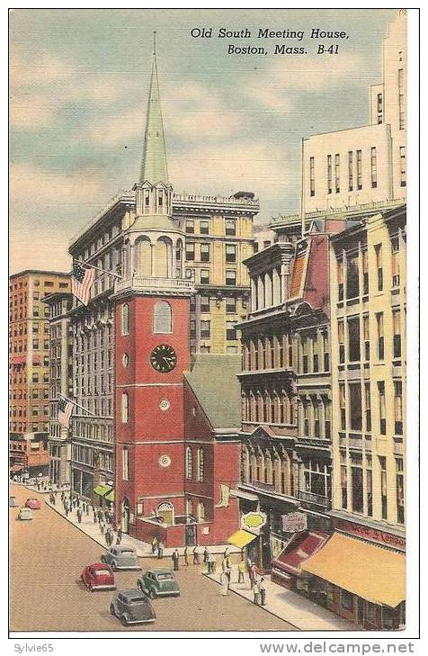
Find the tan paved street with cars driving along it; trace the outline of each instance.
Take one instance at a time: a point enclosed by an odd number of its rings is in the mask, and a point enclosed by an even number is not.
[[[44,504],[41,494],[13,485],[23,505],[42,501],[31,522],[16,519],[10,508],[11,631],[292,631],[293,627],[234,593],[221,596],[217,583],[190,565],[177,573],[181,597],[156,599],[154,625],[123,627],[109,614],[111,591],[88,592],[79,581],[84,566],[97,562],[99,544]],[[169,559],[168,559],[169,562]],[[141,559],[143,569],[158,566]],[[165,559],[166,563],[166,559]],[[136,572],[118,572],[118,589],[134,588]]]

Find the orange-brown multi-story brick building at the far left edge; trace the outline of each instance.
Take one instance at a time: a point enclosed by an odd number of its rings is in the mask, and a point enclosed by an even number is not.
[[[21,450],[34,454],[27,462],[31,473],[36,468],[45,473],[49,464],[49,308],[41,300],[68,287],[67,274],[56,271],[27,270],[10,277],[9,431],[14,441],[31,442],[30,449]]]

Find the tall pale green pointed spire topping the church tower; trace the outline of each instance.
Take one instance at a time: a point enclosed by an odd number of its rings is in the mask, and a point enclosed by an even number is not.
[[[156,31],[153,32],[153,59],[150,91],[148,94],[146,131],[144,135],[143,159],[139,175],[140,184],[147,182],[168,184],[166,166],[164,123],[159,97],[156,65]]]

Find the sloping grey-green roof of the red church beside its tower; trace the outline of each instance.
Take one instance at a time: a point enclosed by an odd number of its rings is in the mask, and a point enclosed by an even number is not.
[[[238,430],[241,424],[240,355],[196,355],[184,377],[217,430]]]

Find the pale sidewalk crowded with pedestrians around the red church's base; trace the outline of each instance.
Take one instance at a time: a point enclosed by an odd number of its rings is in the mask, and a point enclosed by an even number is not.
[[[77,521],[77,513],[76,509],[72,510],[70,513],[68,513],[68,517],[66,517],[64,513],[64,508],[61,503],[61,499],[59,498],[59,495],[57,497],[57,504],[53,506],[49,499],[45,499],[45,503],[49,508],[52,510],[55,510],[55,512],[58,513],[61,517],[64,517],[64,519],[67,520],[67,522],[70,522],[70,524],[73,524],[76,526],[76,528],[79,529],[79,531],[82,531],[82,533],[85,533],[85,535],[88,535],[90,538],[94,540],[94,542],[100,544],[103,547],[103,550],[106,551],[108,549],[107,544],[105,542],[104,535],[100,531],[100,525],[98,522],[94,524],[93,520],[93,513],[92,511],[90,512],[89,515],[86,515],[85,513],[82,516],[82,522],[79,524]],[[114,544],[114,543],[113,543]],[[130,535],[122,534],[122,539],[120,542],[121,545],[125,546],[132,546],[134,547],[137,555],[139,558],[156,558],[156,555],[152,552],[152,545],[148,544],[146,542],[141,542],[140,540],[137,540],[135,537],[131,537]],[[113,545],[111,545],[113,546]],[[192,558],[192,548],[189,547],[189,557]],[[174,552],[175,547],[169,547],[164,549],[164,558],[166,556],[171,556],[172,553]],[[208,551],[210,553],[224,553],[226,549],[229,550],[230,553],[239,553],[240,550],[236,549],[236,547],[231,546],[230,544],[216,544],[214,546],[209,546],[207,547]],[[200,550],[200,558],[202,561],[202,556],[201,556],[201,546],[199,547]],[[183,547],[178,549],[178,552],[180,555],[183,555]],[[162,562],[162,559],[159,560],[159,563]]]

